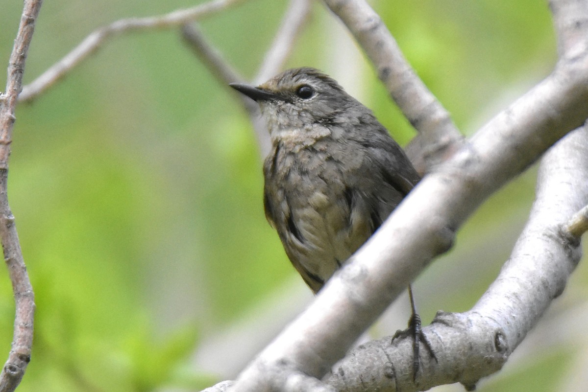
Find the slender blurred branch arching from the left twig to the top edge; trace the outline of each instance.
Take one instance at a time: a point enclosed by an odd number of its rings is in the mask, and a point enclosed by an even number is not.
[[[108,26],[102,26],[88,35],[78,46],[64,58],[55,63],[41,76],[22,89],[19,100],[28,102],[62,79],[72,68],[100,48],[103,43],[114,36],[131,31],[148,29],[165,29],[185,25],[213,12],[235,5],[243,0],[213,0],[192,8],[179,9],[165,15],[148,18],[120,19]]]

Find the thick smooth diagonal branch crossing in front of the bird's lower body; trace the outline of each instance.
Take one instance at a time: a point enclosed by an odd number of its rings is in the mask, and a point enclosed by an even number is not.
[[[259,369],[271,364],[322,377],[407,284],[450,248],[457,228],[485,198],[584,123],[587,70],[588,52],[563,58],[552,75],[423,178],[315,302],[240,374],[235,390],[262,386],[272,375]]]

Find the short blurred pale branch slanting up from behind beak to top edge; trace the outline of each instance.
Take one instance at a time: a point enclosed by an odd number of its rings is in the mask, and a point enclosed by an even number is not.
[[[265,58],[253,79],[253,84],[259,85],[282,71],[286,59],[292,52],[292,46],[302,31],[302,26],[308,20],[311,5],[310,0],[290,1],[282,23],[280,23],[280,29],[276,33],[272,46],[265,53]]]

